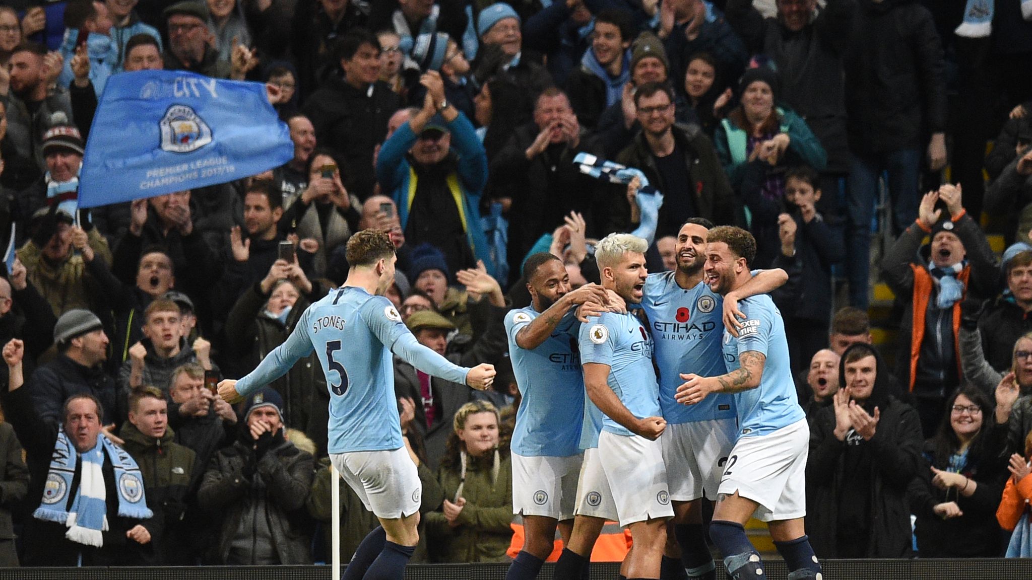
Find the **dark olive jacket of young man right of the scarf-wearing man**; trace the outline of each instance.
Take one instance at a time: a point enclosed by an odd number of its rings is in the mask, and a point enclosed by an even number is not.
[[[140,565],[162,565],[174,561],[175,553],[192,530],[183,525],[187,498],[191,492],[196,454],[189,447],[173,443],[175,433],[165,428],[160,439],[144,436],[135,425],[126,421],[119,431],[125,449],[143,476],[147,489],[147,507],[154,517],[143,525],[151,534],[149,558]]]

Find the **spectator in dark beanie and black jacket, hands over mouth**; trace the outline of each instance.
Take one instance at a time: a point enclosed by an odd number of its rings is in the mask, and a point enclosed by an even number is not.
[[[212,458],[197,490],[201,510],[223,514],[216,558],[237,566],[312,563],[302,513],[315,459],[284,437],[280,393],[264,387],[245,409],[239,437]]]

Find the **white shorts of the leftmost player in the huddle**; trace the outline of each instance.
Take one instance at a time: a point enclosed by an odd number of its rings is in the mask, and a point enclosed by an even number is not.
[[[513,453],[513,513],[559,521],[574,517],[582,459],[580,453],[569,457]]]

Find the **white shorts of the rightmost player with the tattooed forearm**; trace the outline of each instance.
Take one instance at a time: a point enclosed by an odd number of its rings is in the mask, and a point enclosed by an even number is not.
[[[719,493],[736,490],[760,504],[753,516],[761,521],[806,515],[806,458],[810,426],[800,419],[765,436],[743,437],[735,443],[723,466]]]

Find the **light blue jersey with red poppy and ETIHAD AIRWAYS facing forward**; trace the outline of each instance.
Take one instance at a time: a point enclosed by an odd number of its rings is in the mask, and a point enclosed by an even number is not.
[[[702,377],[724,374],[720,351],[723,297],[702,282],[685,290],[677,285],[674,273],[650,273],[641,303],[655,342],[663,417],[668,423],[731,419],[735,417],[735,400],[730,394],[711,394],[699,405],[674,399],[677,387],[684,383],[681,373]]]

